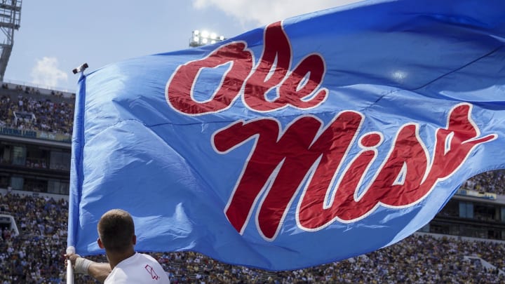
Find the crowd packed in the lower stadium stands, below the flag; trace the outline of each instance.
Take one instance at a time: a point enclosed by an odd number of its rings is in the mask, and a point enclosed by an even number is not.
[[[0,214],[20,234],[1,229],[0,283],[64,283],[68,204],[64,199],[0,194]],[[505,270],[505,242],[415,234],[367,255],[296,271],[262,271],[217,262],[196,252],[152,254],[172,283],[505,283],[496,269],[464,260],[477,256]],[[105,256],[94,257],[105,261]],[[76,275],[76,283],[95,283]]]

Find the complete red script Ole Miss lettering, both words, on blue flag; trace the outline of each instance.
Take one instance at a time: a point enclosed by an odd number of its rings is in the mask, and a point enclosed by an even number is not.
[[[228,109],[241,94],[245,106],[255,111],[317,107],[328,95],[321,88],[323,58],[308,55],[290,70],[291,61],[290,42],[277,22],[265,29],[264,50],[257,65],[253,67],[253,54],[245,43],[221,46],[208,57],[176,70],[167,83],[167,102],[189,116]],[[210,100],[194,100],[191,92],[201,69],[230,62]],[[277,93],[272,100],[266,97],[270,90]],[[405,208],[418,203],[437,182],[455,173],[474,147],[497,137],[479,137],[471,109],[466,103],[453,107],[447,126],[436,130],[435,141],[422,141],[417,123],[400,126],[382,162],[375,160],[384,137],[377,131],[360,133],[365,117],[357,111],[340,112],[328,126],[311,115],[299,116],[285,130],[276,119],[231,123],[213,135],[218,153],[226,154],[249,140],[255,144],[224,213],[242,234],[258,207],[255,219],[260,234],[273,240],[299,191],[296,220],[307,231],[335,221],[356,222],[379,205]],[[431,156],[424,142],[434,143]],[[360,150],[349,157],[356,143]],[[372,163],[380,165],[364,184]],[[361,188],[364,190],[358,194]]]

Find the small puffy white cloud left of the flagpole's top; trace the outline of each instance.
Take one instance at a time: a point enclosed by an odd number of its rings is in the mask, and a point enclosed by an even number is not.
[[[32,83],[46,87],[62,86],[63,82],[67,82],[67,73],[58,69],[58,58],[43,57],[41,60],[36,60],[35,66],[32,68]]]

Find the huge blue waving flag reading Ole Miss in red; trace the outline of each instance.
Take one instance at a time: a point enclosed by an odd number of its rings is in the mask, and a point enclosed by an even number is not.
[[[69,245],[299,269],[400,241],[505,168],[505,1],[364,1],[81,76]]]

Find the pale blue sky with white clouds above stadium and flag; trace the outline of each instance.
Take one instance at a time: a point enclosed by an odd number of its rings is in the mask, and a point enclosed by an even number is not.
[[[227,38],[357,0],[25,0],[4,81],[74,91],[72,69],[189,48],[194,29]],[[310,4],[309,4],[310,3]]]

